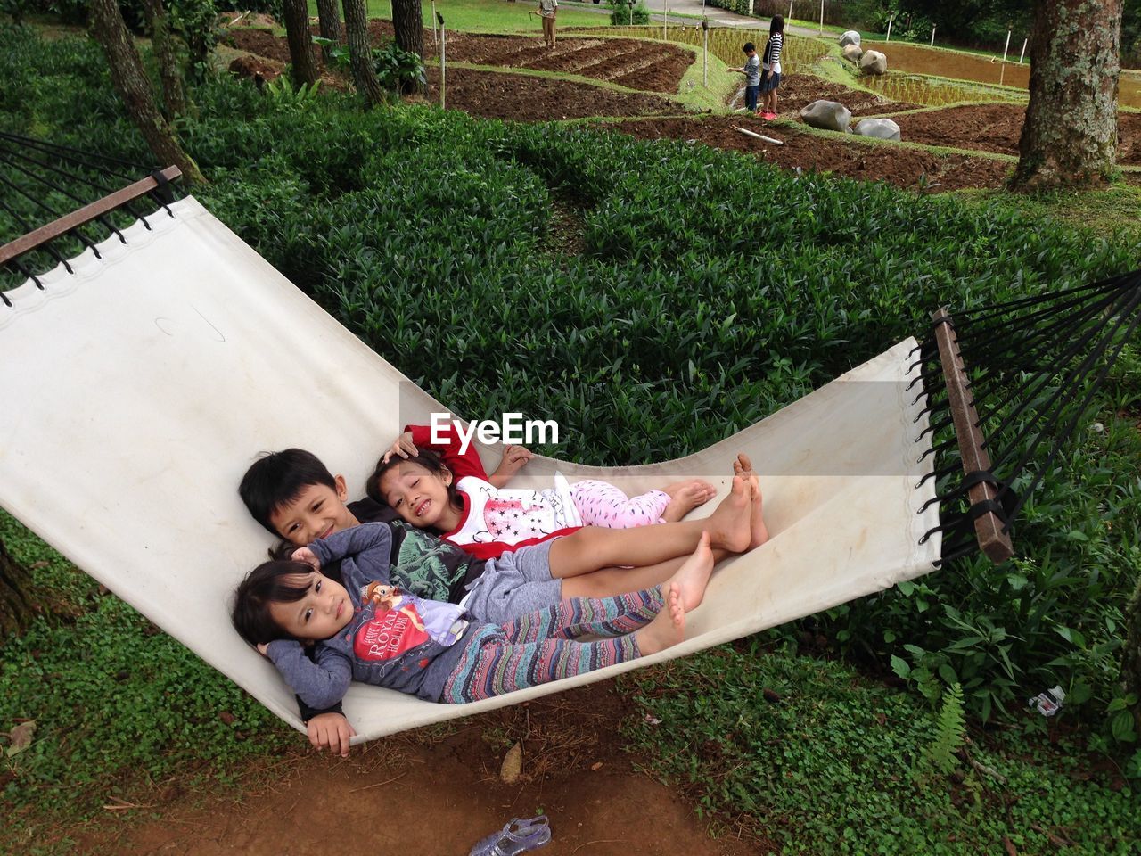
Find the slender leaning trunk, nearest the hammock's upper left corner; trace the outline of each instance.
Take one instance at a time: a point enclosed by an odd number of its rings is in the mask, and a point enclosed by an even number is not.
[[[123,99],[127,113],[138,126],[151,152],[160,165],[176,165],[183,170],[188,184],[202,184],[205,179],[197,164],[191,159],[175,137],[175,130],[162,118],[154,104],[154,94],[143,62],[127,32],[123,15],[115,0],[91,0],[91,31],[107,55],[111,81],[119,97]]]

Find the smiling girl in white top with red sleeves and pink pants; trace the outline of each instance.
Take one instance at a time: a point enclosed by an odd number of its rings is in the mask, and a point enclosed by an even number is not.
[[[491,476],[474,449],[461,452],[451,428],[437,430],[443,443],[432,446],[427,426],[408,426],[378,461],[366,490],[402,519],[439,533],[445,541],[479,558],[495,558],[520,547],[567,535],[580,526],[632,528],[680,520],[717,491],[690,479],[628,498],[606,482],[568,484],[556,476],[541,491],[507,487],[533,457],[523,446],[508,446]]]

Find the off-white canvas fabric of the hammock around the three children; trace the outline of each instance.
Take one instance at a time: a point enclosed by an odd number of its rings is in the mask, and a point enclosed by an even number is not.
[[[258,452],[315,452],[350,492],[406,422],[445,409],[370,350],[194,199],[112,237],[103,259],[0,306],[0,506],[151,621],[301,728],[293,694],[230,628],[230,592],[270,538],[236,486]],[[357,740],[466,716],[739,638],[926,573],[934,479],[905,391],[906,340],[697,454],[599,469],[536,458],[520,484],[605,477],[629,491],[703,477],[738,451],[761,474],[771,540],[725,563],[683,644],[467,705],[354,685]],[[917,371],[917,370],[916,370]],[[536,381],[540,379],[536,379]],[[916,387],[917,389],[917,387]],[[492,414],[474,414],[491,418]],[[485,463],[497,453],[482,449]],[[709,503],[695,516],[709,514]]]

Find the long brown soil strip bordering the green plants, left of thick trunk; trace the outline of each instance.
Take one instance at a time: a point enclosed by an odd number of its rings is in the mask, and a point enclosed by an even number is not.
[[[898,187],[915,189],[920,187],[921,178],[925,177],[925,187],[931,192],[998,187],[1010,167],[988,158],[940,155],[901,146],[848,143],[839,137],[828,139],[801,130],[802,126],[799,124],[762,122],[745,115],[649,119],[620,122],[616,127],[641,139],[670,137],[735,152],[748,152],[784,169],[799,167],[806,171],[834,172],[865,181],[888,181]],[[784,145],[755,139],[735,130],[735,127],[779,139]]]

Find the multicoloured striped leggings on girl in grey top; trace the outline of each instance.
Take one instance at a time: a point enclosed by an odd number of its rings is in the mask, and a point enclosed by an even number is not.
[[[507,624],[483,624],[444,685],[442,702],[462,704],[602,669],[641,656],[631,633],[663,606],[654,588],[606,598],[576,597]],[[576,637],[609,637],[576,641]]]

